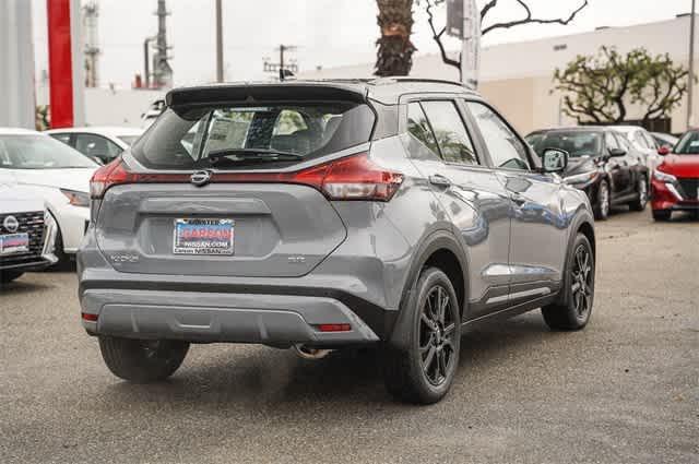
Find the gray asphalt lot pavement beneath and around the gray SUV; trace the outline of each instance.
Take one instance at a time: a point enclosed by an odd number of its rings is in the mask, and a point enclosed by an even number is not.
[[[467,333],[451,393],[395,403],[376,352],[194,345],[132,385],[79,323],[72,272],[0,290],[0,463],[698,463],[699,222],[597,224],[592,320]]]

